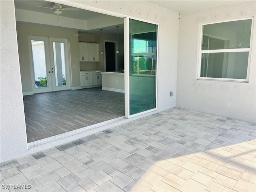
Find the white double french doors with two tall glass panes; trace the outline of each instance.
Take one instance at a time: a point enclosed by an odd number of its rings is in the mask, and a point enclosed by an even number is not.
[[[70,89],[68,39],[28,36],[34,93]]]

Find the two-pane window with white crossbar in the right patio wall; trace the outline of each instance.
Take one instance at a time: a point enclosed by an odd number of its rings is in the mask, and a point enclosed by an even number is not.
[[[199,79],[247,81],[252,19],[202,26]]]

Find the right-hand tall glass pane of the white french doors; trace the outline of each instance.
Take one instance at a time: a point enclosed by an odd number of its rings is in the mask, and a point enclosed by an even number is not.
[[[54,68],[56,86],[66,85],[64,43],[53,42]]]

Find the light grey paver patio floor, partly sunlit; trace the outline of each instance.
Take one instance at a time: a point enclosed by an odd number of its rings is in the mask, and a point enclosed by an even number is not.
[[[256,191],[255,134],[253,123],[172,108],[3,162],[1,191]]]

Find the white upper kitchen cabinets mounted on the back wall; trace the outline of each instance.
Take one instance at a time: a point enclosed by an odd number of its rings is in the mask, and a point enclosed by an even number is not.
[[[99,44],[79,42],[79,52],[81,62],[99,62]]]

